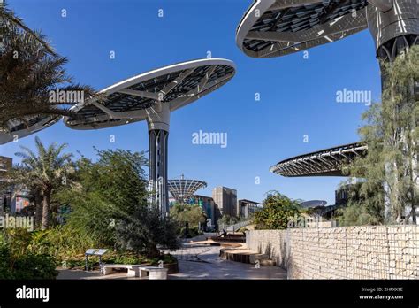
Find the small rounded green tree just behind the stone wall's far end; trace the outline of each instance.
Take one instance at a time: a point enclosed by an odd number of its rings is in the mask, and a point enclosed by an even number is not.
[[[263,209],[255,212],[256,227],[261,229],[286,229],[291,218],[300,215],[298,200],[292,200],[278,191],[270,191],[263,200]]]

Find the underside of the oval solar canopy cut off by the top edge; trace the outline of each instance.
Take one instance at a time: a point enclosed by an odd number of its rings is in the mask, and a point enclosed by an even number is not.
[[[335,42],[362,31],[367,0],[257,0],[237,28],[248,56],[271,58]]]

